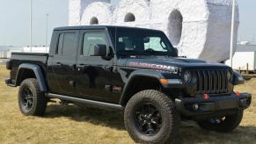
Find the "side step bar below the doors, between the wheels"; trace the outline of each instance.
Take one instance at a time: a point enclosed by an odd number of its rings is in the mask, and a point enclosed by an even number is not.
[[[116,110],[124,110],[124,107],[121,106],[120,104],[109,104],[109,103],[98,102],[94,100],[88,100],[88,99],[83,99],[78,97],[69,97],[69,96],[63,96],[63,95],[52,94],[52,93],[47,94],[46,97],[58,98],[61,100],[67,100],[70,102],[77,102],[81,104],[89,104],[91,106],[99,106],[99,107],[106,107],[106,108],[111,108]]]

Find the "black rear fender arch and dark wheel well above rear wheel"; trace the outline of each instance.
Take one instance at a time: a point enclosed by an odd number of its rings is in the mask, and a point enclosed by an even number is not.
[[[40,90],[48,91],[48,86],[45,76],[42,73],[40,66],[30,63],[22,63],[18,66],[18,73],[16,76],[16,86],[19,86],[26,78],[36,78],[38,80]]]

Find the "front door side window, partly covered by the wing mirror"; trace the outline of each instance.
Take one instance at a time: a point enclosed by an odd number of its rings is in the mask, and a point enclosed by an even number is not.
[[[82,54],[84,56],[94,56],[95,47],[108,46],[106,33],[104,32],[86,32],[84,33],[84,44]]]

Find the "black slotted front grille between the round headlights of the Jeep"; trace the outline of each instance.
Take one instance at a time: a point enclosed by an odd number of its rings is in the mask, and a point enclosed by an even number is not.
[[[228,93],[228,72],[228,69],[195,70],[198,93]]]

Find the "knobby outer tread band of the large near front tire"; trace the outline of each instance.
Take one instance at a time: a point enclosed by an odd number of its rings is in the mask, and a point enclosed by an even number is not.
[[[131,113],[131,110],[134,104],[138,101],[141,101],[143,98],[150,98],[151,100],[157,101],[158,104],[161,105],[163,108],[166,117],[170,120],[170,122],[166,122],[165,131],[164,133],[157,139],[152,141],[143,141],[138,138],[138,136],[133,133],[134,130],[131,129],[132,127],[129,125],[128,115]],[[142,143],[165,143],[174,140],[174,137],[179,129],[179,114],[176,111],[175,104],[172,102],[172,99],[166,96],[164,93],[157,91],[157,90],[143,90],[136,93],[131,99],[128,101],[128,104],[125,109],[125,116],[124,116],[125,126],[128,130],[129,135],[135,142],[142,142]]]

